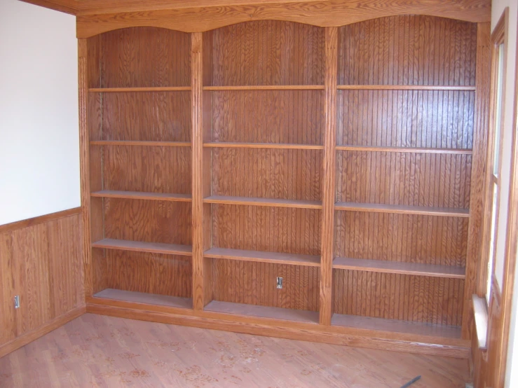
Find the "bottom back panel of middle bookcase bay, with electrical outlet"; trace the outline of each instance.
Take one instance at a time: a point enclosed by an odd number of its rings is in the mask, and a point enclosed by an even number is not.
[[[318,267],[214,259],[213,271],[214,300],[318,311]]]

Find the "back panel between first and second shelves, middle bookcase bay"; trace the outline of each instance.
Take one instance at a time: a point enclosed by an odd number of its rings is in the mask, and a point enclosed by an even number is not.
[[[213,141],[323,144],[324,92],[212,92]]]

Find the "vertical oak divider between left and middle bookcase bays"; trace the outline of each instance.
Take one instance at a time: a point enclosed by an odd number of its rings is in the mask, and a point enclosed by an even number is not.
[[[202,33],[191,34],[193,309],[203,310],[203,48]]]

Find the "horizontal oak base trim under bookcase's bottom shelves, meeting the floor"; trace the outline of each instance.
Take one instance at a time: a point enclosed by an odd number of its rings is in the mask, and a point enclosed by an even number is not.
[[[468,359],[469,341],[428,337],[346,326],[322,326],[297,321],[247,317],[219,312],[172,309],[123,301],[87,298],[86,311],[112,317],[179,324],[214,330],[233,331],[276,338],[324,342],[416,354],[432,354]]]

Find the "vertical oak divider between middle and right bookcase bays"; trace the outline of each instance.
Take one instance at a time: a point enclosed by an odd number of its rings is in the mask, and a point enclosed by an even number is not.
[[[322,238],[320,258],[320,324],[330,325],[334,258],[334,202],[336,147],[336,76],[338,73],[338,28],[325,29],[325,141],[322,187]]]

